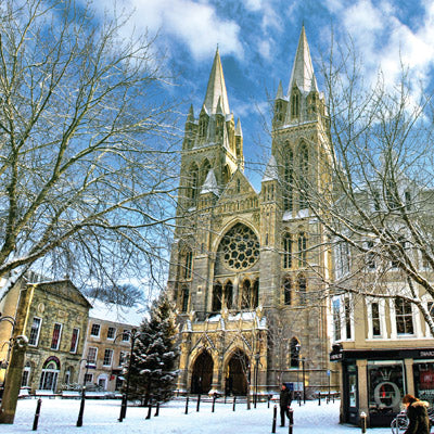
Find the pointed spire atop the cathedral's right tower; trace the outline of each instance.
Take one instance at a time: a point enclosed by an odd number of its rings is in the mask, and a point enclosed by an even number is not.
[[[312,90],[318,91],[304,25],[299,35],[297,52],[292,67],[290,88],[288,90],[289,94],[294,86],[304,92],[310,92]]]

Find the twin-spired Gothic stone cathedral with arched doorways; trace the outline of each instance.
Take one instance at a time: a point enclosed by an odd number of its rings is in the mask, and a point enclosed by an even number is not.
[[[273,107],[258,192],[244,175],[241,122],[230,111],[217,50],[182,144],[168,279],[180,393],[266,395],[285,382],[309,396],[339,384],[323,283],[332,257],[320,247],[324,230],[307,200],[308,189],[321,194],[329,182],[321,161],[330,135],[304,27],[288,91],[279,85]]]

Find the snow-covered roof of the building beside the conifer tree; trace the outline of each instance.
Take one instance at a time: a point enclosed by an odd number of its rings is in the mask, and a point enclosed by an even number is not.
[[[140,326],[145,309],[143,306],[135,305],[132,307],[105,303],[100,299],[90,301],[92,308],[89,310],[89,318],[104,321],[118,322],[129,326]]]

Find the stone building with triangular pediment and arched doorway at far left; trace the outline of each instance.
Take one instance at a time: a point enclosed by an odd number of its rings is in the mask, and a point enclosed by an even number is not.
[[[16,319],[15,335],[28,337],[22,386],[53,394],[78,381],[90,307],[69,280],[31,283],[23,279],[4,291],[0,311]],[[11,336],[12,324],[2,321],[0,342],[8,343]],[[8,345],[0,347],[0,359],[8,360]]]

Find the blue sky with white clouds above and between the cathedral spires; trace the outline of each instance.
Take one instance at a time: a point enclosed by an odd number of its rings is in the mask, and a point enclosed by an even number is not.
[[[94,7],[110,11],[113,4],[114,0],[98,0]],[[116,8],[120,7],[133,11],[130,27],[137,33],[158,33],[157,44],[177,75],[177,86],[169,91],[183,99],[186,115],[190,103],[195,114],[202,106],[218,44],[229,105],[242,123],[247,176],[256,188],[254,169],[270,144],[258,107],[268,116],[267,92],[273,97],[279,80],[286,89],[303,23],[320,88],[316,60],[330,48],[332,27],[337,40],[352,36],[368,81],[381,67],[393,82],[400,59],[416,77],[432,81],[432,0],[118,0]]]

